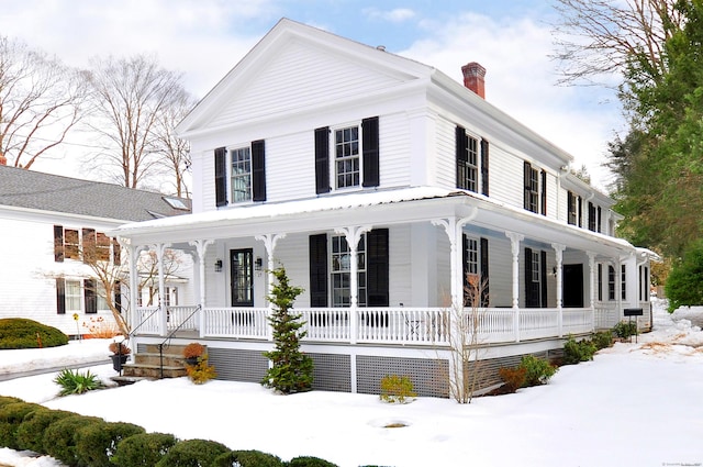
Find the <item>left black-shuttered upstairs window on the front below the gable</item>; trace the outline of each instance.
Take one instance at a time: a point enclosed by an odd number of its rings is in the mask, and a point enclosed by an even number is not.
[[[215,204],[224,207],[266,201],[266,146],[264,140],[248,146],[219,147],[214,154]]]

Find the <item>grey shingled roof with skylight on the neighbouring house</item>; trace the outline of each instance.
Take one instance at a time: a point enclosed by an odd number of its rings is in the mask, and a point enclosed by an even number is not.
[[[191,208],[183,198],[0,165],[2,205],[131,222],[186,214]]]

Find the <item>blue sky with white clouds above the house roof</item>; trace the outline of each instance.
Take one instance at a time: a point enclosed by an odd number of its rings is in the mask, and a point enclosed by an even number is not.
[[[556,86],[550,0],[0,0],[0,34],[87,67],[94,56],[155,54],[204,96],[287,16],[434,66],[461,80],[487,69],[487,100],[585,165],[604,187],[606,143],[623,120],[614,94]],[[70,146],[68,146],[70,148]],[[70,151],[55,154],[70,158]],[[37,170],[60,171],[66,164]]]

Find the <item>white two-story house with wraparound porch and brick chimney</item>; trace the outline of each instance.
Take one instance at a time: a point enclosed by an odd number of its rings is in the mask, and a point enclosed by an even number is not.
[[[284,19],[180,123],[193,213],[114,234],[131,255],[196,252],[197,337],[221,378],[264,376],[279,265],[304,289],[303,348],[328,390],[402,374],[446,394],[447,322],[470,283],[493,370],[649,310],[650,254],[614,236],[613,201],[484,100],[480,65],[462,69],[464,86]],[[133,309],[137,348],[161,342],[168,307]]]

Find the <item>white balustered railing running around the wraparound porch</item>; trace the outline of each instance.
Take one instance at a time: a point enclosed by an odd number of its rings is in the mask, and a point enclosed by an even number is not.
[[[270,338],[267,308],[168,307],[167,331],[175,329],[200,331],[203,337]],[[159,334],[159,313],[154,308],[137,309],[138,316],[148,316],[142,334]],[[304,341],[389,345],[449,344],[451,311],[443,308],[359,308],[356,316],[348,308],[300,308]],[[203,329],[200,330],[200,313]],[[466,333],[478,330],[479,344],[501,344],[537,338],[588,333],[598,326],[599,316],[591,309],[467,309],[462,326]],[[477,323],[478,320],[478,323]],[[356,327],[353,326],[356,322]],[[476,326],[475,326],[476,323]],[[179,327],[180,326],[180,327]]]

